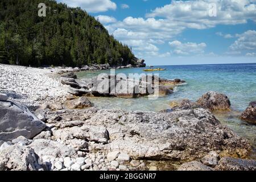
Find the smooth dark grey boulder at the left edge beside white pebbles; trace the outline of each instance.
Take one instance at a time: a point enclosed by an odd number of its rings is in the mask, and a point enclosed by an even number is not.
[[[31,139],[45,127],[46,124],[26,106],[13,101],[0,101],[0,140],[10,141],[19,136]]]

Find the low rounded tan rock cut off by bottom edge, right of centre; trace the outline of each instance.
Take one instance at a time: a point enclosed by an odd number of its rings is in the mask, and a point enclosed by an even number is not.
[[[189,163],[182,164],[177,171],[213,171],[213,168],[205,166],[204,164],[192,161]]]

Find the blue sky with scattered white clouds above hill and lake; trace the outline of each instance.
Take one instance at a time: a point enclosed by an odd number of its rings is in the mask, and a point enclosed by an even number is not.
[[[147,65],[256,63],[256,0],[57,0],[81,7]]]

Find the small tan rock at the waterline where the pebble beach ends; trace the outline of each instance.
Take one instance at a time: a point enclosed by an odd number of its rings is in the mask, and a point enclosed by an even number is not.
[[[92,107],[92,103],[86,97],[79,97],[74,100],[66,102],[68,109],[83,109],[86,107]]]

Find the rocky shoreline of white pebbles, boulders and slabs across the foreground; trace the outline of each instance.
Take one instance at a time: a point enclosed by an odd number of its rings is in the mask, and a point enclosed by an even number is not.
[[[247,139],[211,112],[230,109],[224,94],[209,92],[159,113],[100,110],[87,97],[65,92],[61,78],[52,77],[59,69],[0,70],[0,170],[256,169],[255,160],[246,160]],[[174,82],[181,80],[162,85],[171,90]]]

